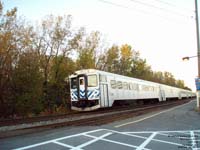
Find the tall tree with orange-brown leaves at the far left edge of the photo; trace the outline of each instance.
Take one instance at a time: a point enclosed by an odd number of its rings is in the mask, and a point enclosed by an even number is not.
[[[0,2],[0,114],[14,114],[13,73],[19,56],[29,49],[31,26],[25,26],[23,19],[17,18],[17,9],[3,14]]]

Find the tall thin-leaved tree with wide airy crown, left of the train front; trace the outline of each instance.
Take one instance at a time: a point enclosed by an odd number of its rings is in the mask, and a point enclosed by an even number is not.
[[[72,32],[70,15],[64,17],[47,16],[47,18],[42,21],[41,27],[38,27],[36,30],[36,33],[38,34],[36,34],[37,36],[34,40],[34,47],[40,56],[39,59],[44,77],[44,102],[49,112],[52,112],[55,101],[49,98],[50,96],[48,94],[51,93],[52,86],[56,87],[57,85],[49,86],[50,78],[54,78],[54,84],[60,82],[60,66],[72,50],[76,49],[78,46],[81,34]],[[50,77],[52,64],[54,73],[52,74],[53,77]],[[64,79],[62,79],[62,81],[64,81]]]

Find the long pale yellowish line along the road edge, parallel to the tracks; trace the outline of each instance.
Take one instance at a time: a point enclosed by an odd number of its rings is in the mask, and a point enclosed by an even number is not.
[[[193,102],[193,101],[191,101],[191,102]],[[126,125],[129,125],[129,124],[138,123],[138,122],[144,121],[144,120],[146,120],[146,119],[149,119],[149,118],[158,116],[158,115],[160,115],[160,114],[162,114],[162,113],[166,113],[166,112],[168,112],[168,111],[172,111],[172,110],[174,110],[174,109],[183,107],[183,106],[185,106],[185,105],[190,104],[191,102],[186,103],[186,104],[183,104],[183,105],[180,105],[180,106],[176,106],[176,107],[174,107],[174,108],[171,108],[171,109],[168,109],[168,110],[165,110],[165,111],[161,111],[161,112],[156,113],[156,114],[153,114],[153,115],[151,115],[151,116],[148,116],[148,117],[145,117],[145,118],[142,118],[142,119],[138,119],[138,120],[136,120],[136,121],[132,121],[132,122],[127,122],[127,123],[124,123],[124,124],[116,125],[116,126],[114,126],[114,127],[115,127],[115,128],[119,128],[119,127],[126,126]]]

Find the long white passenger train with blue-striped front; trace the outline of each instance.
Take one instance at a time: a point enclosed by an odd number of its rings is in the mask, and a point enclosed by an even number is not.
[[[111,107],[117,101],[161,102],[195,96],[189,90],[95,69],[78,70],[69,80],[71,109],[77,111]]]

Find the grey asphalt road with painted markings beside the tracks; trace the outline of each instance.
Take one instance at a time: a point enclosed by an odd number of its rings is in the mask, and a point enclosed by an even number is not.
[[[65,127],[0,139],[0,150],[200,150],[196,102],[102,126]]]

